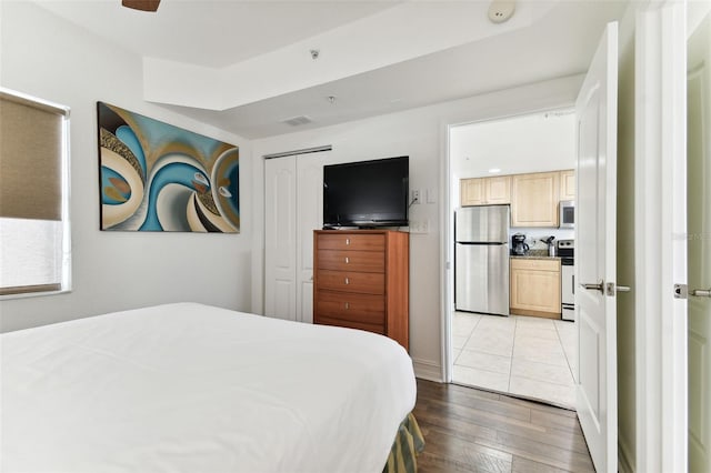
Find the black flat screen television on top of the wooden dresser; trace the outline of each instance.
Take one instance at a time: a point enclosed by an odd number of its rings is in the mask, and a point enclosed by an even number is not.
[[[409,157],[323,167],[323,228],[407,227]]]

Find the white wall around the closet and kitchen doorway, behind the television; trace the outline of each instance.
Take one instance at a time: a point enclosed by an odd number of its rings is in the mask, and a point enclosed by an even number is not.
[[[434,203],[413,205],[411,220],[428,220],[427,234],[410,235],[410,352],[418,375],[441,379],[442,280],[448,259],[443,241],[449,239],[445,209],[448,125],[513,114],[570,107],[581,78],[565,78],[504,90],[437,105],[356,121],[319,130],[256,140],[254,243],[263,245],[263,160],[269,153],[331,144],[338,161],[357,161],[407,154],[410,157],[410,188],[431,189]],[[260,234],[262,232],[262,234]],[[256,251],[254,271],[263,265],[263,246]],[[254,278],[252,306],[263,308],[260,274]],[[257,284],[260,284],[258,286]]]

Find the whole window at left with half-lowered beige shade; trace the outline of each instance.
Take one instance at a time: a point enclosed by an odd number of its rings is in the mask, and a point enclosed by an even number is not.
[[[0,88],[0,296],[70,289],[69,109]]]

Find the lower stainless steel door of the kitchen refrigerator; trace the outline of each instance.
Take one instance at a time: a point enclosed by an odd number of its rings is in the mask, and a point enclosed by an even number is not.
[[[509,245],[457,243],[454,259],[457,310],[509,315]]]

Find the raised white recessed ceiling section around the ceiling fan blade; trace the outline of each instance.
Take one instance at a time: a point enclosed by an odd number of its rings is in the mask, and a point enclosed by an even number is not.
[[[399,2],[162,0],[157,12],[121,0],[37,0],[137,54],[223,68],[314,37]]]

